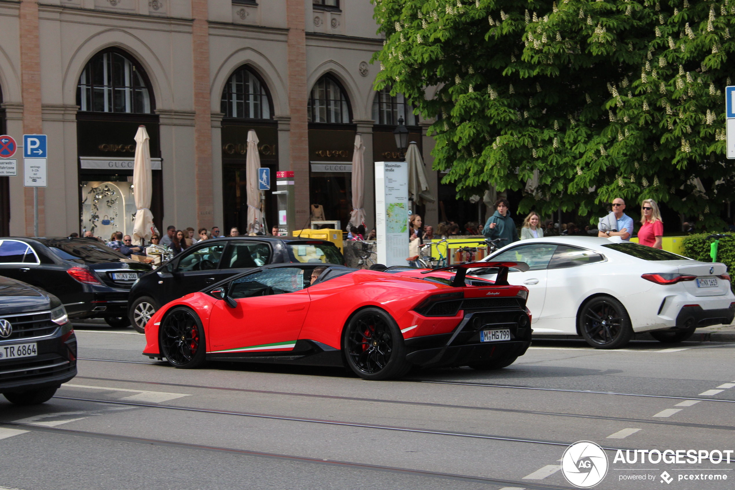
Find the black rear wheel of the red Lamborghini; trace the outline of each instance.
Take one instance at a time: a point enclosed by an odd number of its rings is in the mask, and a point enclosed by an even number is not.
[[[409,372],[404,336],[385,311],[366,308],[351,318],[343,334],[347,364],[360,378],[377,381]]]

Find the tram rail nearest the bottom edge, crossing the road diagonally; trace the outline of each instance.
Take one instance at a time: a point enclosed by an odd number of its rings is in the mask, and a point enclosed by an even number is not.
[[[105,402],[105,403],[109,403],[109,402]],[[159,407],[159,408],[162,408],[162,407]],[[270,459],[277,459],[277,460],[282,460],[282,461],[294,461],[294,462],[311,463],[311,464],[322,464],[325,466],[340,466],[343,468],[369,469],[373,471],[392,472],[392,473],[399,473],[399,474],[404,474],[404,475],[426,476],[426,477],[431,477],[431,478],[441,478],[445,480],[461,480],[461,481],[487,483],[487,484],[500,485],[500,486],[523,487],[526,489],[534,489],[534,490],[574,490],[571,487],[567,487],[567,486],[545,485],[542,483],[531,482],[529,480],[523,480],[523,481],[504,480],[501,478],[487,478],[487,477],[480,477],[480,476],[473,476],[473,475],[459,475],[456,473],[447,473],[447,472],[432,472],[432,471],[423,470],[423,469],[401,468],[398,466],[383,466],[383,465],[378,465],[378,464],[367,464],[367,463],[359,463],[359,462],[354,462],[354,461],[339,461],[339,460],[331,460],[331,459],[323,459],[323,458],[310,458],[308,456],[285,455],[285,454],[279,454],[279,453],[266,453],[262,451],[244,450],[244,449],[237,449],[233,447],[218,447],[218,446],[209,446],[207,444],[192,444],[188,442],[167,441],[165,439],[147,439],[147,438],[135,437],[135,436],[121,436],[117,434],[92,432],[92,431],[87,431],[87,430],[65,429],[65,428],[55,428],[55,427],[39,427],[38,425],[19,423],[19,422],[0,422],[0,426],[8,426],[12,428],[23,428],[24,430],[31,430],[34,432],[56,433],[56,434],[62,434],[62,435],[67,435],[67,436],[87,437],[87,438],[92,438],[92,439],[106,439],[106,440],[112,440],[112,441],[131,442],[131,443],[137,443],[137,444],[154,444],[154,445],[159,445],[159,446],[174,447],[174,448],[180,448],[180,449],[204,450],[204,451],[211,451],[215,453],[229,453],[229,454],[243,455],[243,456],[256,456],[260,458],[270,458]]]

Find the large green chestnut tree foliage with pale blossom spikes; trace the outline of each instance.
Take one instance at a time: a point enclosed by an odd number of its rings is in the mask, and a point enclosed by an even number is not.
[[[721,224],[735,0],[375,3],[376,87],[437,118],[434,165],[460,197],[524,190],[520,211],[546,215],[653,198]]]

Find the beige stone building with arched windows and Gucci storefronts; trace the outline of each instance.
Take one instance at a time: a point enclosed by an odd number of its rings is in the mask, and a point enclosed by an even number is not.
[[[0,0],[0,132],[49,138],[39,234],[132,231],[141,124],[151,136],[159,227],[244,227],[248,129],[262,166],[295,173],[304,227],[312,205],[347,223],[351,173],[325,170],[351,162],[361,133],[373,226],[372,163],[398,156],[398,118],[427,169],[433,144],[400,95],[373,90],[376,30],[368,0]],[[15,157],[18,176],[0,177],[0,231],[30,235],[33,192],[21,152]],[[427,174],[432,193],[456,206],[440,174]],[[439,207],[420,209],[425,223],[437,222]]]

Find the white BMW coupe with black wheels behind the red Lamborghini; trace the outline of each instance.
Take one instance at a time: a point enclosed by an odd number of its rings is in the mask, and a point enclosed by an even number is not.
[[[506,245],[485,261],[526,262],[508,282],[528,287],[534,334],[581,335],[600,349],[634,333],[681,342],[735,316],[727,266],[699,262],[620,237],[544,237]],[[494,270],[470,274],[495,278]]]

